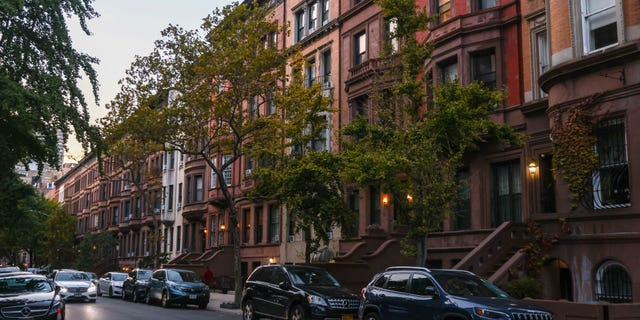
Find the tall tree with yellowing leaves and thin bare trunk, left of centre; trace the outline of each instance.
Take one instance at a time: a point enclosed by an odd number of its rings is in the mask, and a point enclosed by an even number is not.
[[[287,31],[272,22],[268,10],[257,3],[234,4],[216,9],[199,30],[169,26],[122,82],[135,98],[128,105],[155,119],[157,126],[149,130],[158,144],[205,160],[215,174],[223,197],[210,204],[228,217],[237,304],[242,293],[237,211],[248,198],[233,192],[223,172],[241,159],[264,164],[279,159],[290,145],[288,135],[303,132],[328,106],[321,103],[319,86],[288,86],[287,69],[301,72],[302,57],[297,48],[283,51],[267,41]],[[159,107],[169,92],[178,94]],[[287,97],[316,103],[291,105]],[[303,108],[309,105],[314,109]],[[285,115],[292,121],[284,121]]]

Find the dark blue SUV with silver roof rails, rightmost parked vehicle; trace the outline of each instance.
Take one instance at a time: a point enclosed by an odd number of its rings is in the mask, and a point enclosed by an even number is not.
[[[358,316],[381,319],[552,320],[469,271],[390,267],[362,289]]]

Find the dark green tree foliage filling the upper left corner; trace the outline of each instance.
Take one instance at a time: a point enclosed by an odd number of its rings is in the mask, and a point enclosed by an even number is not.
[[[89,124],[77,82],[86,75],[98,100],[96,58],[76,51],[67,16],[98,16],[92,0],[3,1],[0,4],[0,172],[36,162],[59,166],[59,142],[75,134],[82,146],[97,148],[100,136]],[[59,141],[59,135],[62,141]]]

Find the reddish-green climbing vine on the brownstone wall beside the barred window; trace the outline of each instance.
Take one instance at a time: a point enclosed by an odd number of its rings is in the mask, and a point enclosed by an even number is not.
[[[597,97],[591,96],[572,106],[564,122],[562,117],[556,118],[551,131],[554,167],[567,183],[572,210],[585,195],[585,185],[598,165],[593,134],[597,119],[592,110]]]

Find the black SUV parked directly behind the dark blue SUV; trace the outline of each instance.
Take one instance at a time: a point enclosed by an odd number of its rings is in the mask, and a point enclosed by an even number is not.
[[[354,319],[358,294],[328,271],[306,265],[271,264],[256,268],[242,292],[243,319]]]

